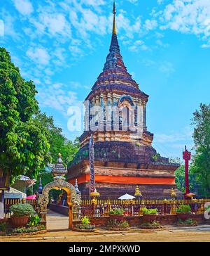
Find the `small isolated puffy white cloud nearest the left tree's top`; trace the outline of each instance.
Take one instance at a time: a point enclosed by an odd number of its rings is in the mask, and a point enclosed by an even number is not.
[[[42,47],[30,47],[27,50],[27,56],[31,58],[32,61],[40,65],[48,65],[50,61],[50,56],[47,49],[44,49]]]

